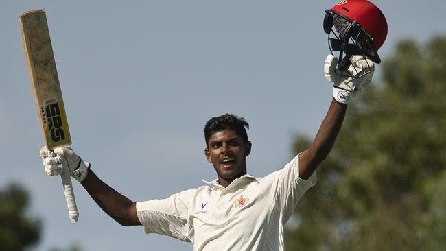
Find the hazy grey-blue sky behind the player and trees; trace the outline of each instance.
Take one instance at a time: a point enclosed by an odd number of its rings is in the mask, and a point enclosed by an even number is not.
[[[386,16],[387,58],[401,39],[446,34],[444,0],[373,1]],[[18,16],[45,8],[73,149],[134,201],[166,198],[213,180],[204,123],[226,112],[250,123],[248,172],[292,158],[296,134],[314,137],[331,101],[322,73],[324,10],[336,1],[0,2],[0,187],[30,190],[43,219],[36,250],[192,250],[115,223],[73,180],[71,224],[60,178],[45,175],[43,145]],[[379,66],[375,82],[379,82]],[[339,139],[342,140],[342,139]]]

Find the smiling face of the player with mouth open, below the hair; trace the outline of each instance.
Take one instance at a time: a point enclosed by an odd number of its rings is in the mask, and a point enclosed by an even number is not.
[[[227,187],[235,178],[246,174],[246,156],[250,151],[249,141],[244,143],[241,136],[226,129],[212,134],[204,154],[217,171],[218,182]]]

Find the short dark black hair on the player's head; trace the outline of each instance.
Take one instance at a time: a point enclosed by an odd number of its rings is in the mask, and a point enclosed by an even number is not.
[[[226,113],[219,117],[213,117],[204,125],[204,139],[206,140],[206,147],[209,147],[209,139],[212,134],[225,129],[233,130],[238,136],[241,136],[244,143],[248,142],[248,134],[246,129],[249,129],[249,124],[242,117]]]

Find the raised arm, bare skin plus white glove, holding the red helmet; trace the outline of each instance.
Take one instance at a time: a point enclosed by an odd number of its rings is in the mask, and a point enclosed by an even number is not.
[[[355,93],[371,82],[375,71],[373,62],[364,60],[362,56],[351,57],[348,72],[338,71],[337,64],[338,60],[334,56],[327,56],[324,73],[325,78],[333,84],[333,100],[312,145],[299,155],[299,176],[304,180],[312,176],[316,167],[331,152],[344,121],[347,104]]]

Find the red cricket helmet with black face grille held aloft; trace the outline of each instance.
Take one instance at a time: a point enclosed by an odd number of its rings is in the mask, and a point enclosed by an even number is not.
[[[324,32],[328,34],[331,53],[340,51],[339,69],[349,67],[352,55],[362,55],[377,64],[381,62],[378,49],[386,40],[387,21],[381,10],[370,1],[341,1],[325,10]],[[331,34],[335,38],[331,38]]]

